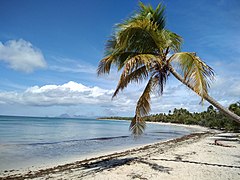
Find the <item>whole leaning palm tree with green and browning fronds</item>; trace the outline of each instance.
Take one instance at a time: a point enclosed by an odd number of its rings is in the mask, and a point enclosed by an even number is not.
[[[180,52],[182,38],[165,28],[165,7],[159,4],[153,9],[143,3],[139,6],[138,12],[116,25],[97,70],[98,75],[108,74],[112,65],[115,65],[122,71],[113,97],[129,83],[147,81],[130,124],[132,133],[143,133],[145,122],[142,117],[150,112],[151,93],[158,92],[161,95],[170,74],[197,93],[201,102],[207,100],[240,123],[239,116],[208,95],[214,77],[213,69],[196,53]]]

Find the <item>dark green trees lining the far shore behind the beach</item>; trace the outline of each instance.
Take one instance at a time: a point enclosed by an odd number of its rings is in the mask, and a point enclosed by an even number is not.
[[[231,104],[228,108],[235,114],[240,116],[240,102]],[[132,120],[133,117],[102,117],[100,119],[117,119],[117,120]],[[144,121],[148,122],[167,122],[188,125],[200,125],[213,129],[239,132],[240,125],[226,116],[221,111],[210,105],[206,111],[191,113],[187,109],[169,110],[168,113],[152,114],[143,117]]]

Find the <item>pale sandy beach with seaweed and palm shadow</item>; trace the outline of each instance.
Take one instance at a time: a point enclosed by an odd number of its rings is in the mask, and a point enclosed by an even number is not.
[[[194,133],[53,168],[5,172],[0,179],[239,180],[239,134]]]

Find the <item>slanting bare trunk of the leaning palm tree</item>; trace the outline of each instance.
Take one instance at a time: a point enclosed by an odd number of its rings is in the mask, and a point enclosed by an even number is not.
[[[183,77],[178,74],[175,69],[173,69],[173,67],[169,66],[169,70],[170,72],[179,80],[181,81],[183,84],[185,84],[187,87],[189,87],[190,89],[192,89],[194,91],[194,88],[188,84],[187,82],[184,81]],[[194,91],[195,92],[195,91]],[[199,94],[198,94],[199,95]],[[230,110],[228,110],[227,108],[223,107],[221,104],[219,104],[216,100],[214,100],[212,97],[210,97],[208,94],[205,94],[203,96],[203,98],[205,100],[207,100],[209,103],[211,103],[213,106],[215,106],[217,109],[219,109],[220,111],[222,111],[226,116],[230,117],[232,120],[236,121],[237,123],[240,123],[240,117],[236,114],[234,114],[233,112],[231,112]]]

